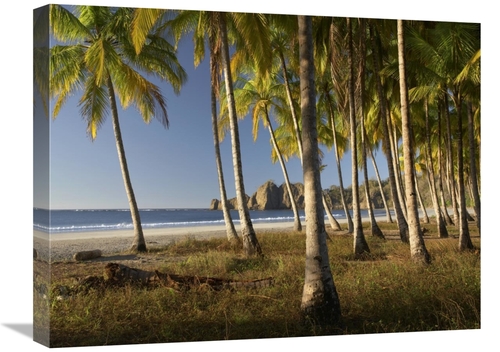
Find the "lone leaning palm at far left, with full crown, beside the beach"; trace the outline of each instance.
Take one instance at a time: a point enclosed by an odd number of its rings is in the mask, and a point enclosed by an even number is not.
[[[186,80],[186,73],[177,61],[174,48],[158,35],[148,34],[147,44],[140,54],[136,53],[130,35],[132,11],[129,8],[76,6],[73,14],[65,7],[51,5],[52,34],[58,41],[68,44],[55,45],[50,50],[50,92],[55,98],[55,118],[67,98],[83,88],[80,112],[92,140],[111,113],[134,226],[131,249],[146,251],[121,136],[117,100],[123,108],[134,105],[145,122],[156,117],[168,127],[167,106],[160,88],[141,72],[170,82],[176,93]]]

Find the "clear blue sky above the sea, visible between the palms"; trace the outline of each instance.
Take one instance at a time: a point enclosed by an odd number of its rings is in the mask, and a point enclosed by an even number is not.
[[[178,58],[188,74],[180,95],[175,95],[168,83],[157,81],[167,100],[169,129],[157,120],[144,123],[134,107],[119,112],[132,186],[140,208],[207,208],[213,198],[220,198],[208,58],[195,68],[193,44],[187,37],[179,46]],[[79,97],[77,93],[68,100],[58,117],[50,122],[50,207],[127,208],[111,118],[91,141],[79,114]],[[261,127],[255,142],[251,130],[250,117],[240,120],[245,191],[249,195],[267,180],[274,180],[277,185],[284,182],[279,163],[273,164],[270,159],[267,129]],[[326,149],[325,152],[324,164],[328,167],[322,174],[322,185],[328,188],[339,182],[334,153]],[[235,186],[229,134],[221,144],[221,153],[227,194],[231,198],[235,196]],[[385,157],[378,155],[381,177],[386,178]],[[346,186],[351,184],[350,165],[348,153],[342,161]],[[291,182],[302,182],[297,157],[291,158],[286,167]],[[375,177],[370,161],[369,172]]]

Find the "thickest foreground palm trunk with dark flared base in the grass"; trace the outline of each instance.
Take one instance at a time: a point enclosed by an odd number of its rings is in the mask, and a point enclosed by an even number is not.
[[[312,20],[298,16],[304,196],[306,213],[306,261],[301,310],[304,318],[319,325],[340,323],[340,300],[333,281],[321,206],[321,178],[316,128]]]

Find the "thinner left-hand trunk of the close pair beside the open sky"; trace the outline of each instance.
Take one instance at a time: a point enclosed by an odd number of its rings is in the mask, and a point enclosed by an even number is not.
[[[215,96],[215,80],[214,75],[216,70],[214,68],[214,58],[213,51],[210,48],[210,78],[211,78],[211,89],[210,89],[210,99],[211,99],[211,110],[212,110],[212,133],[214,137],[214,148],[215,148],[215,164],[217,167],[217,176],[219,179],[219,190],[220,199],[222,206],[222,214],[224,216],[224,224],[226,225],[226,234],[229,241],[236,240],[240,241],[238,234],[236,233],[236,228],[234,227],[233,219],[231,217],[231,212],[229,211],[226,186],[224,182],[224,173],[222,171],[222,158],[220,155],[219,146],[219,127],[217,126],[217,99]]]

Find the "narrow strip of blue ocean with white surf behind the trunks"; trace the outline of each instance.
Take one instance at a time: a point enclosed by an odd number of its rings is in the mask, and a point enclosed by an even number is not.
[[[222,211],[208,209],[142,209],[141,223],[144,229],[193,226],[216,226],[224,224]],[[361,215],[367,216],[362,210]],[[375,210],[376,216],[385,216],[383,209]],[[238,211],[231,210],[235,224],[239,223]],[[343,210],[334,210],[337,220],[345,219]],[[253,223],[290,222],[293,224],[292,210],[250,210]],[[304,221],[304,211],[300,211]],[[325,215],[325,223],[328,219]],[[33,229],[50,233],[112,231],[132,229],[132,219],[128,209],[74,209],[47,210],[33,209]]]

